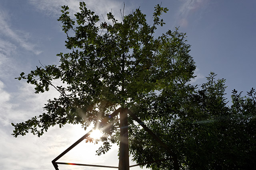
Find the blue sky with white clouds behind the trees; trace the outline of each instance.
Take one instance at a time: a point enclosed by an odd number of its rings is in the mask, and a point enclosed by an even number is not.
[[[87,0],[87,7],[101,17],[112,10],[121,18],[139,8],[152,22],[154,6],[162,2],[169,11],[163,14],[166,23],[156,32],[165,33],[179,27],[186,32],[190,55],[196,63],[192,84],[206,82],[212,71],[217,78],[226,79],[226,98],[233,89],[246,95],[256,88],[256,1],[254,0]],[[0,1],[0,169],[49,170],[51,161],[67,149],[86,131],[79,125],[51,127],[42,137],[32,134],[14,138],[11,123],[26,121],[43,113],[49,98],[58,97],[50,90],[34,94],[34,87],[26,81],[14,79],[21,72],[30,72],[42,64],[58,64],[56,54],[65,48],[66,35],[57,21],[62,5],[70,7],[70,14],[78,11],[78,0],[1,0]],[[106,18],[106,17],[105,17]],[[102,17],[100,18],[103,19]],[[120,20],[120,19],[119,19]],[[57,83],[57,82],[56,82]],[[230,101],[231,102],[231,101]],[[230,103],[229,103],[230,104]],[[90,129],[88,129],[90,130]],[[118,148],[113,146],[104,156],[95,156],[98,145],[80,143],[59,161],[82,164],[118,166]],[[134,163],[130,163],[134,164]],[[102,170],[78,166],[60,166],[60,170]],[[130,168],[138,170],[139,168]],[[145,168],[144,168],[145,169]]]

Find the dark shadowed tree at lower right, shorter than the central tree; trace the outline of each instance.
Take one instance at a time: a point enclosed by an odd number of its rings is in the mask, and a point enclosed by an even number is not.
[[[233,90],[232,105],[228,106],[225,80],[216,81],[215,76],[211,72],[198,90],[162,92],[158,96],[160,104],[151,108],[154,119],[148,126],[178,153],[181,169],[255,169],[255,89],[247,92],[247,97]],[[136,134],[131,135],[136,137],[131,144],[135,160],[166,157],[166,152],[149,140],[143,129],[136,129]],[[168,161],[147,166],[154,170],[172,169]]]

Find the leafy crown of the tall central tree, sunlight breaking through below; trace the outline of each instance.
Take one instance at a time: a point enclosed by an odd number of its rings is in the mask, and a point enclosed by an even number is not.
[[[48,100],[46,113],[16,125],[12,123],[14,137],[28,132],[40,137],[50,126],[62,127],[66,123],[81,124],[86,129],[119,106],[132,108],[142,121],[154,122],[158,115],[150,109],[159,101],[157,93],[185,93],[191,88],[188,82],[194,78],[195,70],[185,33],[168,30],[154,37],[157,27],[164,25],[161,14],[167,11],[157,5],[152,25],[140,9],[127,16],[122,14],[121,22],[108,13],[108,23],[99,24],[99,16],[88,10],[84,2],[80,2],[80,12],[75,14],[76,22],[68,16],[68,6],[62,6],[59,21],[63,23],[70,53],[57,55],[58,66],[40,66],[26,76],[22,72],[18,78],[35,85],[35,93],[53,86],[60,96]],[[54,86],[52,80],[60,80],[64,85]],[[127,115],[120,113],[120,117]],[[138,127],[130,118],[127,121],[133,143]],[[120,134],[118,118],[113,118],[112,123],[112,128],[104,131],[105,145],[99,154],[109,149],[110,142],[120,143],[116,138]]]

